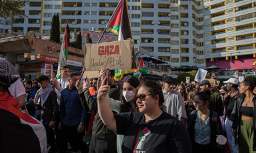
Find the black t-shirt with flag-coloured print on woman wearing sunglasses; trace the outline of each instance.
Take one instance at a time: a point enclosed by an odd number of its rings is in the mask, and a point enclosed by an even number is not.
[[[145,116],[141,112],[125,112],[114,116],[117,134],[125,135],[123,153],[133,152],[137,134],[141,131],[143,136],[136,144],[136,153],[191,152],[189,133],[179,120],[166,112],[149,122],[145,122]]]

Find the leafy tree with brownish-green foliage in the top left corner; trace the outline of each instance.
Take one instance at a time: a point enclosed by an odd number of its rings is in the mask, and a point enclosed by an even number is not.
[[[11,36],[13,34],[13,22],[15,22],[15,17],[24,18],[25,11],[23,7],[28,1],[13,1],[13,0],[1,0],[0,1],[0,17],[11,21]]]

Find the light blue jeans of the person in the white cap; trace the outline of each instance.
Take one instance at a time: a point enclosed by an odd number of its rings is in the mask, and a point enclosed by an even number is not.
[[[232,132],[233,132],[232,125],[233,125],[233,122],[226,118],[225,129],[227,132],[227,142],[229,143],[229,149],[231,153],[238,153],[238,144],[235,145],[235,137],[232,135]]]

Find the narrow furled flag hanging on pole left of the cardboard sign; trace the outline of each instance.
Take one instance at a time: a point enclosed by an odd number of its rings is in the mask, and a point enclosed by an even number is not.
[[[67,22],[68,24],[68,22]],[[61,78],[61,67],[67,65],[67,25],[61,44],[61,53],[59,53],[59,65],[57,70],[57,78]]]

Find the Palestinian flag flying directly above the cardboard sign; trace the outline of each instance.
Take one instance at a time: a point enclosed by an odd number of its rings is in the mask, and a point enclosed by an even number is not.
[[[118,35],[118,41],[132,38],[126,0],[119,1],[113,15],[107,23],[107,27],[109,31]]]

